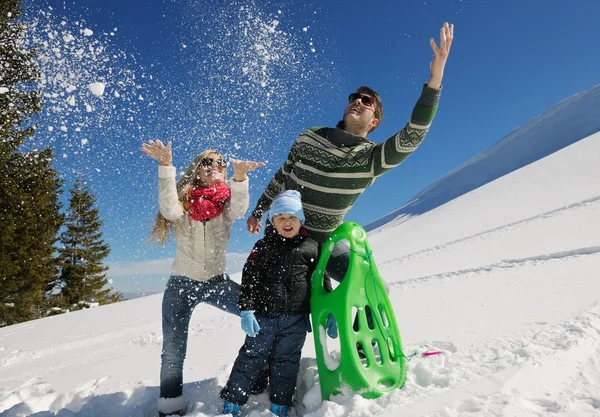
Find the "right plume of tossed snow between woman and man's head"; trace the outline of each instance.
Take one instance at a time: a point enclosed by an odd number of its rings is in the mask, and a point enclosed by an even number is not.
[[[207,8],[188,0],[183,10],[185,65],[195,77],[185,94],[171,98],[180,113],[197,115],[186,120],[186,144],[197,150],[200,140],[264,158],[274,141],[297,134],[292,114],[318,105],[307,86],[328,88],[329,71],[315,61],[313,39],[304,33],[308,25],[295,26],[284,11],[255,1]]]

